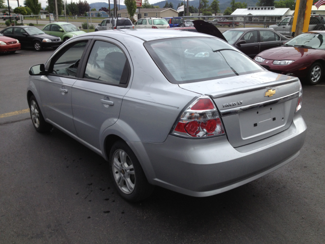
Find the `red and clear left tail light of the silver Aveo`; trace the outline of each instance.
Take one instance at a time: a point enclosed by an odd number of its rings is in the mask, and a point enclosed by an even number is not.
[[[176,121],[172,135],[210,137],[225,135],[219,112],[213,101],[203,96],[192,102]]]

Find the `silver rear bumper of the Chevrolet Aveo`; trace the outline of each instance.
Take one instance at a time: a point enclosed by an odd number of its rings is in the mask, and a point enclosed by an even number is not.
[[[226,136],[196,140],[170,135],[163,143],[128,144],[151,184],[205,197],[242,186],[295,159],[306,129],[298,113],[287,130],[237,148]]]

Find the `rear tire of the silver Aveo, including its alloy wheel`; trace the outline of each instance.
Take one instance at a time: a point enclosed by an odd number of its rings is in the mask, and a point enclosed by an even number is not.
[[[111,179],[117,192],[129,202],[141,201],[149,197],[154,189],[132,149],[126,142],[116,141],[109,156]]]

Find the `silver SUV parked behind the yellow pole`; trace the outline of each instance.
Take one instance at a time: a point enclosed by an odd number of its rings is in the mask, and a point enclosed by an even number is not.
[[[281,20],[280,23],[270,25],[269,28],[274,29],[274,31],[282,34],[283,36],[294,37],[295,33],[291,31],[293,27],[294,17],[286,17]],[[325,20],[319,16],[311,16],[309,21],[308,32],[310,31],[324,31],[325,30]]]

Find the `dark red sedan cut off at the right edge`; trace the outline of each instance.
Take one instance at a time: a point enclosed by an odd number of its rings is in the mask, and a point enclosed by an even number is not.
[[[315,85],[325,71],[325,31],[303,33],[281,47],[259,53],[254,60],[269,71],[306,79]]]

